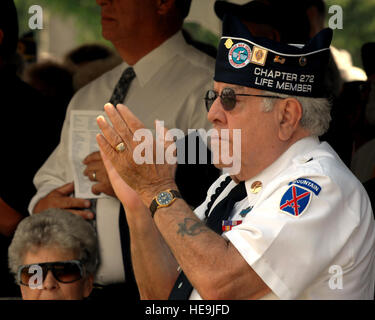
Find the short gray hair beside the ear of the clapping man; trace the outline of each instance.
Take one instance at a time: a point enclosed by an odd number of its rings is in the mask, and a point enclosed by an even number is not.
[[[269,91],[264,91],[263,94],[298,100],[302,106],[301,126],[308,130],[313,136],[319,137],[327,132],[331,121],[331,103],[328,99],[290,96]],[[275,103],[276,99],[264,98],[263,111],[272,111]]]

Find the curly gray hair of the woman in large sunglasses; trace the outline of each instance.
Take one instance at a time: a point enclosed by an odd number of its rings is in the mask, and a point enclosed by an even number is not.
[[[95,275],[98,268],[98,241],[94,228],[82,217],[69,211],[48,209],[19,223],[8,249],[10,271],[16,275],[25,254],[38,247],[73,251],[87,273]]]

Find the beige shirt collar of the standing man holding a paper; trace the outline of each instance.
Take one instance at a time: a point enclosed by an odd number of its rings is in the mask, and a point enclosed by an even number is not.
[[[174,56],[183,52],[186,45],[182,32],[178,31],[140,59],[133,66],[140,85],[144,86]]]

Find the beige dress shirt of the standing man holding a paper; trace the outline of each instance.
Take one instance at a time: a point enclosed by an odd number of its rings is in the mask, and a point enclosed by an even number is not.
[[[133,66],[136,77],[125,103],[149,129],[154,129],[155,119],[164,121],[169,129],[178,128],[185,133],[190,128],[209,129],[211,124],[207,120],[204,96],[212,88],[214,63],[214,59],[188,45],[182,33],[178,32]],[[127,67],[126,63],[122,63],[73,97],[67,110],[61,142],[34,178],[38,191],[30,202],[30,213],[35,204],[53,189],[73,181],[68,158],[70,111],[103,110]],[[97,201],[101,265],[96,282],[100,284],[124,280],[119,208],[120,203],[114,198]]]

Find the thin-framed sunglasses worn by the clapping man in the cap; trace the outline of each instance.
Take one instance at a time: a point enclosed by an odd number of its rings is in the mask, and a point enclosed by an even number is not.
[[[279,96],[267,96],[267,95],[257,95],[257,94],[245,94],[245,93],[236,93],[232,88],[224,88],[219,95],[215,90],[208,90],[204,98],[206,102],[206,109],[210,111],[212,104],[220,97],[221,105],[224,110],[231,111],[236,106],[237,96],[245,97],[261,97],[261,98],[271,98],[271,99],[284,99]]]

